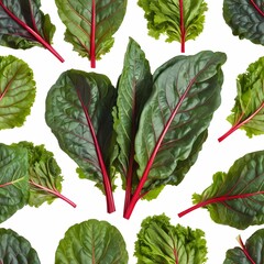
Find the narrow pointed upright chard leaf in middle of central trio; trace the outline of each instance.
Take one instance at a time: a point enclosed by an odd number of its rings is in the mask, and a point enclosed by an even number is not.
[[[152,92],[152,74],[148,62],[140,45],[130,38],[118,82],[117,117],[114,130],[120,148],[118,156],[119,173],[127,188],[129,202],[132,187],[136,186],[136,163],[134,162],[134,139],[139,129],[139,120],[145,102]]]

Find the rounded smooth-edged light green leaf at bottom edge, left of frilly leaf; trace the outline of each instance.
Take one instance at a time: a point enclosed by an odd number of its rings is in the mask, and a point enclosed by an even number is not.
[[[88,220],[68,229],[59,241],[55,264],[128,264],[120,231],[106,221]]]

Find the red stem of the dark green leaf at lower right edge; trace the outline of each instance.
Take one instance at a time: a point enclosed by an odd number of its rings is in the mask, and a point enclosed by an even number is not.
[[[255,196],[255,195],[263,195],[264,191],[256,191],[256,193],[253,193],[253,194],[243,194],[243,195],[234,195],[234,196],[221,196],[221,197],[216,197],[216,198],[211,198],[209,200],[205,200],[205,201],[201,201],[190,208],[188,208],[187,210],[184,210],[182,212],[178,213],[178,217],[182,218],[184,217],[185,215],[198,209],[198,208],[201,208],[201,207],[206,207],[208,205],[211,205],[211,204],[217,204],[217,202],[222,202],[222,201],[227,201],[227,200],[233,200],[233,199],[243,199],[243,198],[248,198],[248,197],[252,197],[252,196]]]

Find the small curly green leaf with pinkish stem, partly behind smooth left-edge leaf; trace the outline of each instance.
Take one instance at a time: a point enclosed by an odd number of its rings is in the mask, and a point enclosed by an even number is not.
[[[25,141],[13,145],[24,147],[29,153],[30,206],[40,207],[45,201],[51,205],[56,198],[61,198],[76,207],[73,201],[61,194],[62,169],[52,152],[48,152],[44,145],[34,146],[33,143]]]

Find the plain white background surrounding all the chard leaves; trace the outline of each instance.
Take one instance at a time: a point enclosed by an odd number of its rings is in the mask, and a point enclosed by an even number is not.
[[[52,264],[58,242],[69,227],[88,219],[107,220],[121,231],[130,255],[129,263],[134,264],[136,263],[133,257],[134,241],[142,220],[147,216],[166,213],[172,224],[180,223],[193,229],[202,229],[208,244],[207,263],[222,263],[226,251],[238,245],[235,238],[239,234],[245,241],[261,227],[251,227],[241,231],[220,226],[210,219],[206,209],[198,209],[182,219],[177,217],[177,213],[191,206],[191,195],[200,194],[207,188],[216,172],[227,172],[239,157],[263,150],[263,135],[248,139],[243,131],[237,131],[222,143],[219,143],[217,139],[231,127],[226,118],[234,105],[237,76],[244,73],[250,63],[257,61],[264,54],[264,47],[233,36],[231,29],[222,18],[223,1],[207,0],[209,10],[206,12],[204,32],[196,41],[186,43],[186,55],[204,50],[227,53],[228,62],[223,66],[222,103],[213,116],[209,138],[204,144],[199,158],[183,183],[176,187],[166,187],[156,200],[139,201],[131,219],[125,220],[122,218],[124,191],[121,190],[120,180],[117,182],[119,188],[114,193],[117,211],[108,215],[105,197],[94,187],[94,183],[78,178],[75,172],[76,164],[59,150],[55,136],[45,124],[46,94],[61,73],[70,68],[91,72],[91,68],[88,59],[79,57],[73,52],[72,44],[64,42],[65,26],[57,15],[54,1],[42,2],[42,10],[51,14],[52,22],[57,28],[53,46],[65,58],[65,63],[59,63],[50,52],[40,47],[28,51],[0,47],[0,55],[12,54],[30,65],[34,72],[37,89],[32,113],[24,125],[19,129],[0,131],[0,136],[2,143],[11,144],[28,140],[35,144],[45,144],[48,151],[54,152],[64,175],[63,194],[74,200],[77,208],[74,209],[59,199],[51,206],[44,205],[38,209],[26,206],[0,227],[10,228],[26,238],[37,251],[41,263]],[[129,0],[124,21],[114,35],[114,46],[103,56],[102,61],[97,62],[97,68],[92,69],[106,74],[114,86],[122,70],[129,36],[132,36],[145,52],[152,72],[169,58],[180,54],[179,43],[168,44],[164,42],[164,38],[156,41],[147,35],[146,21],[143,15],[143,10],[136,6],[136,1]]]

